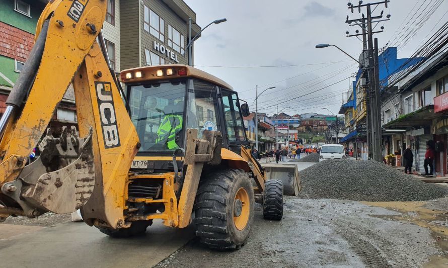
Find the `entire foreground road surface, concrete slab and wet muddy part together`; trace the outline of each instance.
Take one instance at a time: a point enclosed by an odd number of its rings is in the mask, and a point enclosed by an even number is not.
[[[309,164],[297,163],[305,168]],[[113,239],[84,223],[0,224],[2,267],[448,267],[448,199],[363,203],[285,197],[280,222],[255,206],[237,251],[201,246],[160,224]],[[7,257],[4,257],[7,256]]]

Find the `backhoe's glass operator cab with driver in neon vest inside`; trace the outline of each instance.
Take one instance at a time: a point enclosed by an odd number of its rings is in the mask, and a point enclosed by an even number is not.
[[[243,116],[249,108],[240,105],[238,94],[221,79],[170,64],[124,70],[121,81],[141,143],[133,167],[146,168],[154,157],[154,170],[173,170],[172,157],[183,156],[189,128],[198,129],[198,138],[205,129],[220,131],[222,147],[236,153],[247,144]],[[168,158],[160,161],[163,156]],[[179,158],[179,169],[182,165]]]

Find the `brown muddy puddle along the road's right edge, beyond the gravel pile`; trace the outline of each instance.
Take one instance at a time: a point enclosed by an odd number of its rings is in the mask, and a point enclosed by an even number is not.
[[[412,222],[420,227],[429,228],[431,236],[437,246],[443,251],[448,251],[448,211],[433,210],[425,208],[428,204],[425,201],[419,202],[361,202],[368,206],[392,209],[401,212],[403,216],[393,215],[372,215],[378,218],[394,219],[406,222]],[[441,256],[431,256],[425,267],[446,267],[448,265],[448,254]]]

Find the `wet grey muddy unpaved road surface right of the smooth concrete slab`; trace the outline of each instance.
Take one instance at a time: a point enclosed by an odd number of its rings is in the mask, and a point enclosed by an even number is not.
[[[448,266],[448,237],[434,232],[447,224],[448,214],[440,209],[448,200],[419,202],[408,210],[402,208],[416,202],[398,203],[401,207],[285,197],[280,222],[264,220],[256,205],[251,236],[240,250],[213,251],[193,240],[156,267]],[[426,220],[415,206],[426,213]]]

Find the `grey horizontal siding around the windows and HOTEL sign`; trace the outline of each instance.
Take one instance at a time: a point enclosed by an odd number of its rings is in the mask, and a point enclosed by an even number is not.
[[[164,20],[164,35],[165,35],[165,41],[163,42],[163,45],[170,49],[168,46],[168,24],[170,24],[172,27],[174,27],[176,30],[178,30],[181,34],[184,35],[184,48],[187,48],[187,39],[188,39],[188,25],[187,22],[185,22],[184,20],[182,20],[176,13],[174,13],[174,11],[172,11],[166,4],[164,4],[162,1],[160,0],[142,0],[141,1],[141,5],[140,5],[140,24],[141,24],[141,29],[140,29],[140,34],[141,34],[141,51],[140,51],[140,55],[141,55],[141,66],[144,66],[144,49],[148,49],[154,53],[157,53],[159,56],[163,57],[166,61],[170,61],[172,62],[171,59],[168,59],[166,55],[162,55],[159,52],[154,51],[153,46],[154,46],[154,41],[157,41],[158,43],[162,44],[162,41],[160,41],[158,38],[156,38],[155,36],[151,35],[150,33],[146,32],[143,28],[143,22],[144,22],[144,5],[146,5],[148,8],[150,8],[151,10],[153,10],[155,13],[157,13],[163,20]],[[174,50],[173,50],[174,51]],[[178,55],[178,60],[180,64],[187,64],[188,63],[188,59],[187,59],[187,51],[185,51],[185,55],[181,55],[180,53],[178,53],[177,51],[174,51],[174,53],[176,53]],[[174,62],[172,62],[174,63]]]

